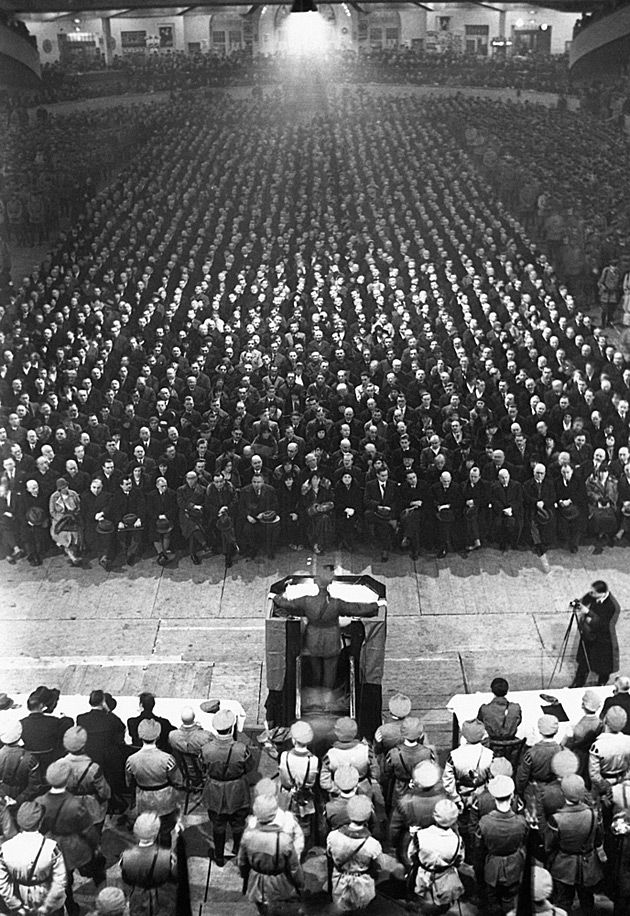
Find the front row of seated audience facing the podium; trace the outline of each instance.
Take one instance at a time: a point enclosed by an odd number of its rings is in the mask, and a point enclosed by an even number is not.
[[[605,450],[596,449],[577,469],[567,452],[549,469],[533,461],[532,476],[521,483],[503,449],[490,449],[481,466],[468,460],[448,470],[453,462],[442,440],[431,435],[427,441],[419,462],[404,436],[402,464],[390,468],[375,457],[365,471],[349,439],[340,440],[336,467],[328,462],[325,470],[315,452],[302,466],[291,443],[273,469],[252,455],[248,465],[240,462],[240,473],[229,461],[208,474],[202,457],[176,490],[162,476],[167,468],[158,471],[140,445],[124,471],[106,455],[90,477],[68,459],[66,475],[54,483],[47,457],[37,459],[31,474],[30,465],[18,470],[26,459],[18,462],[12,454],[0,479],[0,537],[10,562],[26,556],[41,565],[52,540],[73,565],[96,555],[110,569],[121,553],[133,564],[147,542],[161,565],[174,559],[172,546],[183,540],[193,563],[209,549],[231,566],[239,550],[273,556],[278,546],[306,544],[319,553],[335,543],[352,549],[358,538],[386,560],[397,546],[413,559],[421,549],[442,558],[490,541],[502,550],[525,542],[542,554],[557,538],[576,552],[587,532],[601,552],[630,533],[630,463],[622,463],[627,450],[609,464]],[[200,443],[203,452],[205,440]],[[11,451],[21,455],[20,446]]]

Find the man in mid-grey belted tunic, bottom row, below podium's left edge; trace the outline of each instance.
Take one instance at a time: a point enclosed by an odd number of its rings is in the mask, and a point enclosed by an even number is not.
[[[261,914],[298,914],[304,884],[302,869],[291,837],[274,819],[278,802],[261,795],[254,802],[256,826],[246,831],[237,864],[247,897]]]

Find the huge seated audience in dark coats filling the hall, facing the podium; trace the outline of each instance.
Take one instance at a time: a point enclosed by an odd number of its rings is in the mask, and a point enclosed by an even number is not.
[[[166,563],[180,535],[195,563],[357,537],[383,559],[623,541],[630,369],[581,310],[592,293],[506,208],[529,160],[495,160],[511,182],[497,193],[460,142],[474,122],[492,147],[510,106],[339,94],[299,125],[271,100],[167,110],[161,143],[87,201],[0,316],[5,554],[38,564],[49,536],[107,568],[145,541]],[[505,143],[523,122],[553,143],[580,119],[516,121]],[[594,193],[584,180],[567,238]],[[600,216],[605,324],[628,211]]]

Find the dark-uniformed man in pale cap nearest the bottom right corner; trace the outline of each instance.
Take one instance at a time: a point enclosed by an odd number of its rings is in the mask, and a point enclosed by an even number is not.
[[[593,888],[603,877],[596,853],[602,841],[599,818],[584,803],[586,787],[581,776],[565,776],[561,788],[565,805],[549,818],[545,834],[554,903],[571,912],[577,892],[584,916],[594,916]]]

